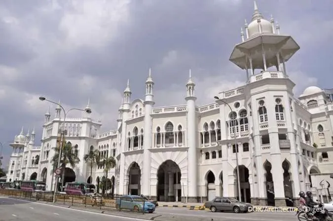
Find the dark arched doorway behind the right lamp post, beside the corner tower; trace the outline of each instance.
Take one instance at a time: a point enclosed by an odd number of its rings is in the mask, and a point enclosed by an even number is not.
[[[249,183],[249,169],[244,166],[244,165],[239,165],[238,166],[239,170],[239,182],[240,182],[240,190],[241,190],[241,195],[240,197],[238,196],[238,184],[237,184],[237,168],[234,170],[234,176],[236,180],[236,185],[235,185],[235,191],[236,194],[235,196],[238,197],[238,200],[242,202],[247,202],[251,203],[251,189],[250,189],[250,183]]]

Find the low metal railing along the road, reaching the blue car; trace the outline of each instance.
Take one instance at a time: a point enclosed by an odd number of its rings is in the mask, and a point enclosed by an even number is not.
[[[16,189],[0,189],[0,196],[10,196],[28,200],[53,202],[53,192],[35,192]],[[101,210],[127,210],[133,212],[152,213],[154,207],[145,198],[114,197],[113,199],[97,196],[80,196],[56,194],[55,201],[64,205],[92,207]]]

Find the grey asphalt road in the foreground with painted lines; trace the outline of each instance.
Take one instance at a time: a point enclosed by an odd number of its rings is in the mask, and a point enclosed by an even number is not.
[[[72,209],[73,208],[73,209]],[[294,212],[256,212],[246,214],[212,213],[188,208],[158,207],[153,214],[110,212],[84,208],[54,206],[0,197],[0,221],[296,221]],[[87,210],[87,208],[86,208]],[[121,217],[119,217],[121,216]],[[129,217],[123,217],[129,216]]]

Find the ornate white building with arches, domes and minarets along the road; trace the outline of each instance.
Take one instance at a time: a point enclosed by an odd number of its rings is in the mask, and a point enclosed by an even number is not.
[[[300,190],[310,189],[329,196],[332,99],[315,86],[305,89],[299,99],[294,97],[295,83],[288,77],[286,62],[299,46],[292,37],[280,35],[273,19],[264,20],[256,4],[241,39],[230,61],[246,70],[248,80],[242,87],[219,93],[209,105],[196,106],[190,74],[184,105],[154,107],[149,71],[144,100],[131,101],[127,84],[117,129],[100,133],[101,124],[89,114],[67,118],[66,140],[80,159],[73,179],[97,184],[105,176],[103,168],[94,165],[90,178],[90,165],[83,161],[90,149],[98,149],[102,156],[116,158],[117,166],[108,177],[118,195],[188,202],[217,195],[237,197],[236,142],[243,201],[290,205]],[[29,140],[22,131],[15,137],[8,180],[29,180],[36,172],[38,180],[53,188],[49,171],[63,121],[60,111],[57,107],[52,120],[49,111],[45,114],[41,147],[33,147],[35,135]],[[38,164],[29,164],[37,155]]]

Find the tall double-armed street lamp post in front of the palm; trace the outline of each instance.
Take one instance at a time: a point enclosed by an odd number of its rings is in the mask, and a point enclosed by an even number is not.
[[[68,112],[73,111],[73,110],[77,110],[77,111],[85,111],[87,113],[91,113],[91,109],[83,110],[83,109],[79,109],[79,108],[71,108],[70,110],[65,111],[64,107],[61,106],[61,104],[59,104],[57,102],[47,100],[45,97],[39,97],[39,100],[40,101],[47,101],[47,102],[50,102],[52,104],[56,104],[64,111],[63,130],[61,131],[62,136],[60,137],[61,138],[60,139],[60,148],[59,148],[59,156],[58,156],[58,163],[57,163],[57,168],[59,168],[60,159],[62,157],[63,141],[64,141],[64,138],[65,138],[65,135],[66,135],[65,122],[66,122],[66,116],[67,116]],[[65,173],[65,171],[62,171],[62,173]],[[56,178],[56,184],[55,184],[54,191],[53,191],[53,203],[55,203],[55,195],[56,195],[56,191],[58,190],[58,183],[59,183],[59,176],[57,176],[57,178]],[[62,188],[62,186],[61,186],[61,188]]]

